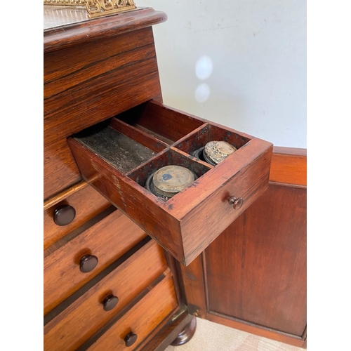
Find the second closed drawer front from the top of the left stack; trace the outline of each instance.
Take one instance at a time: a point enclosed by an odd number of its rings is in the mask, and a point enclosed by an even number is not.
[[[51,253],[44,259],[44,314],[144,237],[145,232],[117,210]],[[90,272],[81,272],[81,259],[87,255],[98,258],[98,264]]]

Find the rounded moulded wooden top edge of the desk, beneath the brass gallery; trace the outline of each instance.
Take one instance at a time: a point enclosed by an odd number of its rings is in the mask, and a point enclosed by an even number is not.
[[[46,18],[44,15],[44,22]],[[60,22],[62,19],[59,18]],[[86,20],[56,27],[55,18],[51,18],[51,28],[44,30],[44,53],[60,48],[77,46],[87,41],[112,37],[117,34],[135,31],[144,27],[157,25],[167,20],[166,13],[154,11],[153,8],[140,8],[137,11],[119,13],[105,18]]]

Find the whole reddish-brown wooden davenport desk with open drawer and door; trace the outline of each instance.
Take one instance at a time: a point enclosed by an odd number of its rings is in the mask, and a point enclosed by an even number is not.
[[[305,150],[164,105],[164,13],[44,7],[45,350],[164,350],[195,317],[305,347]]]

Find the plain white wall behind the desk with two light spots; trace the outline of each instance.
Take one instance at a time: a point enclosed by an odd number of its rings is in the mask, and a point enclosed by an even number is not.
[[[164,103],[277,146],[306,147],[306,0],[135,0],[164,11]]]

